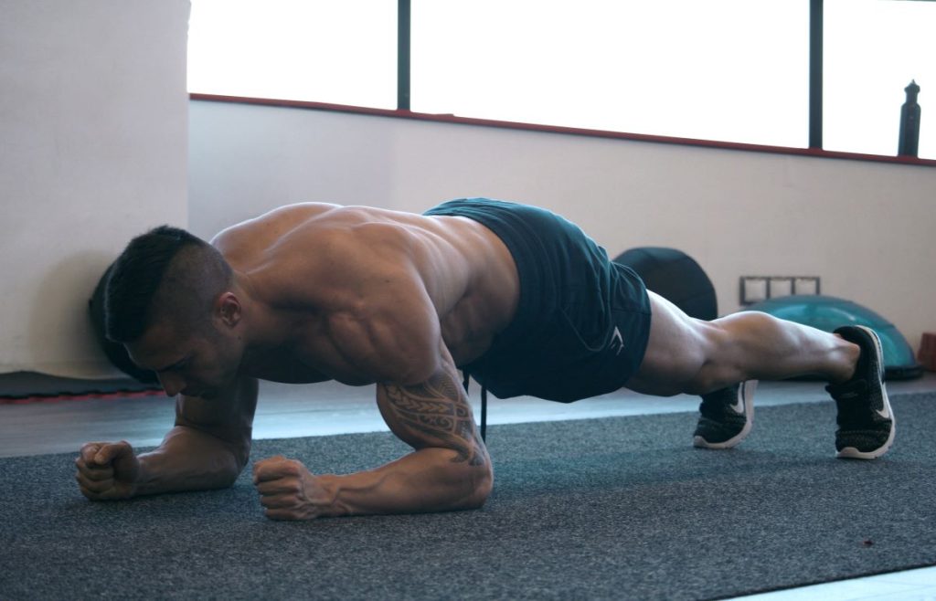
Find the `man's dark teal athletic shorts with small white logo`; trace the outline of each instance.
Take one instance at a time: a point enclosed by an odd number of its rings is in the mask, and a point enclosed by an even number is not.
[[[491,394],[570,403],[616,391],[636,373],[650,337],[647,289],[575,223],[486,198],[451,200],[425,214],[482,223],[517,264],[513,322],[484,355],[459,365]]]

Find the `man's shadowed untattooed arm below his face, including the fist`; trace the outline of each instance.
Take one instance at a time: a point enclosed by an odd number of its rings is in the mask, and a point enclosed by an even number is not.
[[[212,400],[179,395],[175,427],[154,451],[136,456],[126,442],[88,443],[75,463],[92,500],[225,488],[247,463],[256,379],[237,379]]]

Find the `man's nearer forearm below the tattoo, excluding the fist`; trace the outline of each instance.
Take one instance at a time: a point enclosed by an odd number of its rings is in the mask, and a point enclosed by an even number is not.
[[[377,469],[346,476],[321,476],[323,515],[423,513],[480,508],[493,474],[483,459],[459,461],[459,453],[426,448]]]

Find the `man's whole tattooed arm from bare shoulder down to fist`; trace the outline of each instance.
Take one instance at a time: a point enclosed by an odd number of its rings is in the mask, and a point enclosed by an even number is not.
[[[392,234],[378,229],[370,235]],[[384,420],[414,451],[344,476],[313,475],[283,457],[258,462],[254,481],[272,519],[479,508],[490,494],[488,451],[422,276],[408,254],[392,244],[377,245],[378,252],[367,236],[358,232],[337,247],[343,253],[334,259],[343,268],[329,277],[337,279],[330,285],[344,308],[330,314],[323,332],[335,359],[378,382]],[[451,273],[438,278],[454,278]]]

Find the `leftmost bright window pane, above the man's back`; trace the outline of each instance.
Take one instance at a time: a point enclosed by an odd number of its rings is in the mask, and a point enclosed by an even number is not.
[[[397,103],[397,1],[192,0],[188,90]]]

